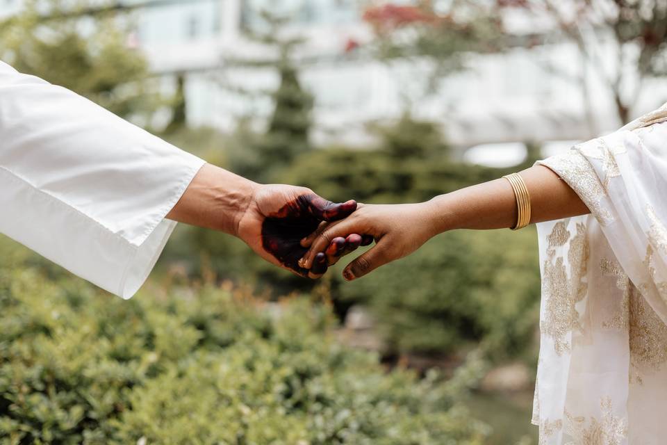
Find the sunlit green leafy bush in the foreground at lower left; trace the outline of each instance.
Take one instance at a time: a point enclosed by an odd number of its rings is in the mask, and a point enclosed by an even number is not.
[[[122,301],[17,258],[0,268],[0,443],[484,441],[459,406],[478,359],[419,380],[340,346],[305,298],[192,284]]]

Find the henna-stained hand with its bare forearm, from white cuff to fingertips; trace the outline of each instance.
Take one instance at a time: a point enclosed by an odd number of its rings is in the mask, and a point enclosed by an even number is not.
[[[304,187],[256,184],[227,170],[204,165],[167,218],[238,236],[261,257],[302,277],[318,278],[340,255],[359,247],[361,237],[336,240],[308,269],[299,259],[302,240],[323,221],[342,220],[356,202],[334,204]]]

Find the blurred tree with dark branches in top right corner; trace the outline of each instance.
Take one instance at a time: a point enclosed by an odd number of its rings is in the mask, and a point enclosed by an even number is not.
[[[550,17],[607,87],[622,123],[629,122],[645,80],[667,74],[665,0],[496,1],[500,10]]]

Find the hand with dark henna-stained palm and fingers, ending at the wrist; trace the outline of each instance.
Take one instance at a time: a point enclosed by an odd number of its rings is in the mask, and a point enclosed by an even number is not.
[[[238,223],[238,237],[267,261],[302,277],[318,278],[329,266],[331,257],[359,247],[355,239],[341,238],[327,254],[313,259],[310,270],[299,266],[308,248],[302,240],[323,221],[342,220],[356,210],[356,202],[334,204],[308,188],[270,185],[257,186]]]

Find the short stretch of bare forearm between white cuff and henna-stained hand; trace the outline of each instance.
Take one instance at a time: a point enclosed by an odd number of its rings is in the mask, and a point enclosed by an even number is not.
[[[167,218],[236,235],[256,186],[248,179],[206,164]]]

